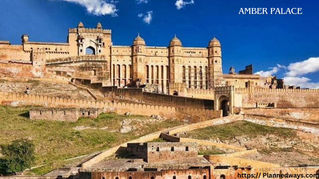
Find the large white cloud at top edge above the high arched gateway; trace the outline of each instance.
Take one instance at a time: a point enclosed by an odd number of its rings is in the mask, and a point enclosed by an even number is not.
[[[84,6],[86,10],[93,15],[112,15],[117,16],[115,4],[117,3],[114,0],[51,0],[51,1],[66,1],[71,3],[76,3]]]

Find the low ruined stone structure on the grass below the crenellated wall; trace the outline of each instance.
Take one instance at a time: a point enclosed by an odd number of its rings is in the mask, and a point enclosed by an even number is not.
[[[97,108],[32,108],[30,119],[76,122],[80,117],[97,118],[101,113]]]

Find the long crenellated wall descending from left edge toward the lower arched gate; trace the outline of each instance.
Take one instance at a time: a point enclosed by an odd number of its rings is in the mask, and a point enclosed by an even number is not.
[[[28,104],[28,105],[42,105],[47,107],[80,107],[80,108],[103,108],[105,111],[114,111],[119,114],[130,112],[136,115],[152,114],[161,115],[164,117],[182,117],[183,115],[190,116],[206,116],[207,118],[220,117],[219,111],[171,107],[162,105],[150,104],[133,104],[133,103],[116,103],[116,102],[102,102],[102,101],[86,101],[70,98],[46,97],[19,93],[0,92],[1,104]]]

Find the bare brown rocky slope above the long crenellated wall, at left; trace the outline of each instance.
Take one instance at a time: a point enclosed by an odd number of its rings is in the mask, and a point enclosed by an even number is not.
[[[63,97],[82,100],[93,100],[92,96],[82,89],[70,84],[42,81],[0,81],[0,91],[43,95],[48,97]]]

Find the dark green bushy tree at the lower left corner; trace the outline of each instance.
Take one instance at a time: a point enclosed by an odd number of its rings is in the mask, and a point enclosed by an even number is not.
[[[0,147],[4,155],[0,159],[0,165],[6,173],[22,172],[30,168],[35,160],[34,145],[31,140],[14,140],[11,144]]]

